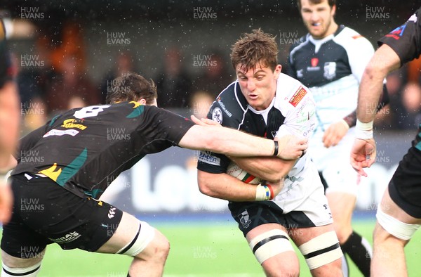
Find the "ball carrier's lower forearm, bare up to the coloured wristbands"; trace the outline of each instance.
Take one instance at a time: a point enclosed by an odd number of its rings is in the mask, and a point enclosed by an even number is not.
[[[243,183],[225,173],[197,173],[197,182],[201,193],[213,198],[229,201],[255,201],[256,186]]]

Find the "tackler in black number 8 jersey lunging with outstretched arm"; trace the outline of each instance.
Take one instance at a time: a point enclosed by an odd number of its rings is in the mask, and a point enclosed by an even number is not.
[[[125,74],[115,83],[108,105],[69,110],[21,139],[11,176],[13,216],[1,238],[1,276],[36,276],[51,243],[132,256],[129,276],[161,276],[168,240],[146,222],[96,200],[107,179],[170,146],[286,159],[307,148],[305,139],[290,136],[276,145],[156,108],[153,82],[139,75]]]

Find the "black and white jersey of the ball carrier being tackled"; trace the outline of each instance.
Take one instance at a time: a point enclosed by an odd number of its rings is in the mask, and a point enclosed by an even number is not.
[[[246,131],[267,139],[293,134],[309,137],[314,129],[314,100],[311,93],[296,79],[281,73],[277,80],[276,97],[265,110],[248,105],[238,80],[230,84],[210,107],[208,118],[222,126]],[[304,172],[304,155],[290,172],[297,176]],[[204,172],[225,173],[229,159],[225,155],[201,151],[197,168]]]

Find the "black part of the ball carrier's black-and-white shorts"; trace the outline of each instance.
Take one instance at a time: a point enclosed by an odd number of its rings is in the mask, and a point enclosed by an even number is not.
[[[316,226],[304,212],[283,214],[281,207],[272,201],[229,202],[228,207],[244,236],[253,228],[267,223],[281,224],[286,229]]]

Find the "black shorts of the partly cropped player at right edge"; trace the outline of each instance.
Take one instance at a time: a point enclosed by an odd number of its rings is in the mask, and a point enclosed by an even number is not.
[[[419,130],[421,131],[421,129]],[[403,156],[389,182],[392,200],[411,217],[421,219],[421,132]]]

